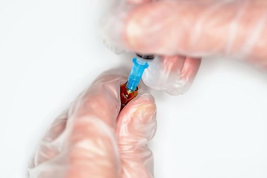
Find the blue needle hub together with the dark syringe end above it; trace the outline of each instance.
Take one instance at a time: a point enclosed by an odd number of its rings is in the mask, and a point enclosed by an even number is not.
[[[147,62],[153,61],[155,58],[155,55],[142,55],[142,54],[136,54],[137,57],[133,58],[133,66],[132,70],[128,77],[127,82],[127,92],[132,93],[136,90],[144,70],[149,67],[149,64]]]

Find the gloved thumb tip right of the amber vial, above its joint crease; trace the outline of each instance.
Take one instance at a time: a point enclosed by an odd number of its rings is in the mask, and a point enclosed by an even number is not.
[[[156,112],[155,100],[147,92],[142,92],[128,103],[117,118],[116,134],[119,144],[131,140],[128,146],[135,149],[152,139],[157,126]],[[129,149],[128,146],[122,144],[121,149]]]

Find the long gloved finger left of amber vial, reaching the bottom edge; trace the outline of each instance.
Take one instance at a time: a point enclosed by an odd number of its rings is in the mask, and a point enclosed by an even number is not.
[[[70,177],[118,177],[120,159],[114,129],[121,108],[122,80],[105,76],[73,102],[69,112]]]

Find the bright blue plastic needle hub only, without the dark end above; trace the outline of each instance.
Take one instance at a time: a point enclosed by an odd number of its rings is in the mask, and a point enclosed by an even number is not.
[[[149,67],[149,64],[145,61],[139,60],[137,57],[133,58],[133,67],[128,77],[127,88],[130,90],[136,90],[144,70]]]

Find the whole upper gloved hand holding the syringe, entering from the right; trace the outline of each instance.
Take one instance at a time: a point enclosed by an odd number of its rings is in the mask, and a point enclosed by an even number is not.
[[[183,87],[194,78],[200,61],[189,57],[175,60],[181,58],[177,55],[228,56],[267,67],[267,1],[143,2],[117,2],[103,29],[112,45],[163,56],[143,78],[150,87],[170,94],[185,91]],[[165,56],[171,56],[170,63]]]

